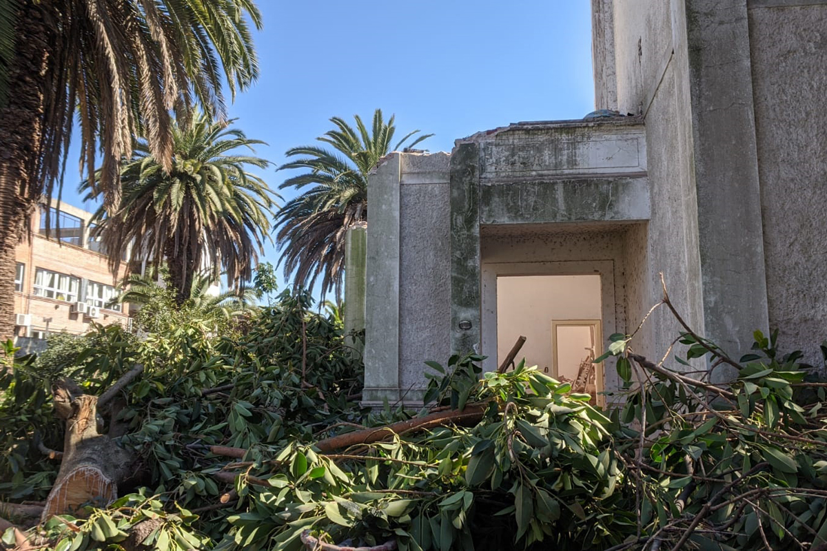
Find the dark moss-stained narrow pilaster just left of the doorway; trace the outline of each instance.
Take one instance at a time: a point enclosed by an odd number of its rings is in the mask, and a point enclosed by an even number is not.
[[[451,351],[479,352],[480,315],[479,145],[451,154]]]

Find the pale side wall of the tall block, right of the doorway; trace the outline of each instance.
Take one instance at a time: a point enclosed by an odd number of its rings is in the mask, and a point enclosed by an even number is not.
[[[624,248],[629,331],[661,298],[664,273],[672,301],[703,330],[697,202],[692,150],[691,103],[683,1],[615,0],[614,38],[621,112],[646,121],[652,216],[647,227],[629,230]],[[633,340],[644,355],[667,349],[679,330],[663,309]]]

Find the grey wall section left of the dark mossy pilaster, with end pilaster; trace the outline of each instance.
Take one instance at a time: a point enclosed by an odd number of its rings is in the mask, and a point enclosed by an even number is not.
[[[422,400],[423,362],[451,353],[448,154],[393,153],[368,184],[365,391]]]

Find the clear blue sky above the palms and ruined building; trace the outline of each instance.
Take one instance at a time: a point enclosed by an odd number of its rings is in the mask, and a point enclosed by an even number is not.
[[[274,166],[312,144],[328,119],[396,115],[397,135],[450,151],[457,138],[518,121],[580,118],[594,108],[588,0],[260,0],[261,78],[229,107]],[[75,146],[77,145],[75,140]],[[75,148],[73,148],[75,149]],[[69,157],[64,200],[75,192]],[[278,188],[285,173],[262,174]],[[289,197],[285,190],[285,197]],[[268,245],[265,260],[278,254]]]

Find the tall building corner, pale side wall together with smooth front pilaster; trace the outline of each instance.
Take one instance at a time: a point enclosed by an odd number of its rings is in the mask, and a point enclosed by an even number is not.
[[[645,116],[653,259],[686,320],[732,354],[767,325],[746,0],[616,0],[621,112]],[[665,349],[676,324],[652,319]]]

